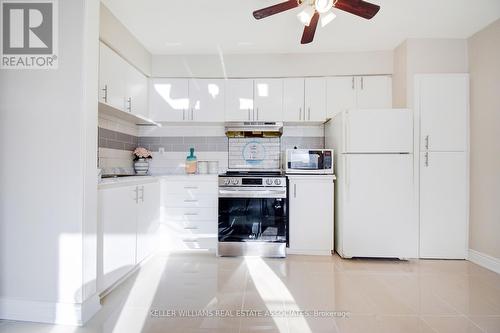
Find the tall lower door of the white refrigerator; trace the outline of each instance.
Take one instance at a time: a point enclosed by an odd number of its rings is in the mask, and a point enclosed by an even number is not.
[[[343,155],[343,255],[416,258],[413,155]]]

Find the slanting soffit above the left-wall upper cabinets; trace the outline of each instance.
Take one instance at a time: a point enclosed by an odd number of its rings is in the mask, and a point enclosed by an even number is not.
[[[151,54],[102,3],[99,37],[143,74],[151,76]]]

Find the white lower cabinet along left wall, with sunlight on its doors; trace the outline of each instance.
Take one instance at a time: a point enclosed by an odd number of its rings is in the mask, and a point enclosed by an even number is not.
[[[159,183],[99,189],[99,289],[104,291],[155,250]]]

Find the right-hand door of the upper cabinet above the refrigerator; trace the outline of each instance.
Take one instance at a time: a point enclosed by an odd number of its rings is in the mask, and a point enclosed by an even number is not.
[[[357,107],[386,109],[392,107],[392,78],[390,76],[357,77]]]

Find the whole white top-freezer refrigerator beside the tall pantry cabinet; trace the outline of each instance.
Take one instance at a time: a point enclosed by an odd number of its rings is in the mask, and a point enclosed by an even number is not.
[[[418,257],[412,111],[344,111],[325,125],[325,140],[335,152],[335,250]]]

